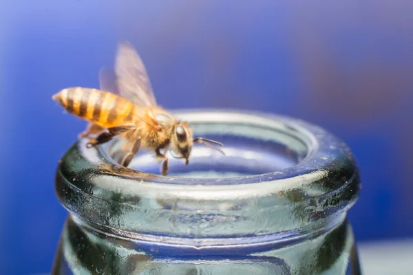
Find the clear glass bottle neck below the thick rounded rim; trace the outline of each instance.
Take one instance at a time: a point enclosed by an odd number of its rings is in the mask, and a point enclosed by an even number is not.
[[[240,274],[240,270],[241,274],[343,274],[348,269],[348,255],[354,252],[352,230],[345,219],[339,222],[340,217],[335,221],[337,225],[331,221],[323,230],[302,232],[295,238],[284,236],[275,241],[272,236],[262,236],[220,239],[221,243],[208,239],[145,239],[142,235],[141,239],[131,239],[72,218],[70,215],[67,219],[61,239],[59,253],[65,261],[59,261],[64,265],[56,265],[55,270],[68,268],[82,274],[113,274],[114,270],[193,274],[198,269],[207,274]]]

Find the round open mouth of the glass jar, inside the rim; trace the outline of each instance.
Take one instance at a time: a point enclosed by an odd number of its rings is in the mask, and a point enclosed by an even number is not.
[[[179,120],[189,122],[194,137],[222,142],[225,155],[202,144],[194,144],[189,164],[173,157],[169,173],[160,175],[162,162],[152,151],[141,149],[128,168],[129,178],[151,179],[167,184],[242,184],[274,180],[297,172],[297,165],[317,150],[315,135],[293,119],[240,111],[176,111]],[[295,122],[295,123],[292,123]],[[124,140],[98,146],[100,155],[119,166],[114,155]]]

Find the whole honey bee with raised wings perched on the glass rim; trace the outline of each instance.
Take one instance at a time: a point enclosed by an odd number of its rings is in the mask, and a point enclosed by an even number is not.
[[[123,41],[119,43],[114,72],[103,67],[99,72],[100,88],[72,87],[54,94],[67,112],[87,120],[89,124],[79,137],[88,137],[87,146],[96,146],[124,137],[126,142],[120,148],[120,165],[127,167],[140,148],[155,151],[163,160],[160,172],[168,173],[167,150],[172,156],[185,159],[193,143],[200,143],[224,152],[212,144],[222,143],[203,137],[193,139],[191,126],[176,120],[169,111],[156,104],[145,65],[134,47]]]

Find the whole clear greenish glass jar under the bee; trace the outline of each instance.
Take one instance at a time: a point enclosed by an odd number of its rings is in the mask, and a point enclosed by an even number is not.
[[[189,165],[153,152],[131,168],[122,140],[61,159],[56,194],[69,210],[53,274],[360,274],[346,212],[359,172],[350,149],[313,124],[241,111],[180,111],[194,136]],[[158,173],[159,174],[159,173]]]

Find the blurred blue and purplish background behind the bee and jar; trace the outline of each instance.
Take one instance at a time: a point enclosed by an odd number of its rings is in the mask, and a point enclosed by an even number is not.
[[[164,107],[270,111],[341,137],[363,179],[350,211],[362,265],[412,259],[412,10],[408,0],[1,1],[0,274],[50,271],[67,214],[54,173],[85,127],[51,96],[98,87],[120,39]]]

